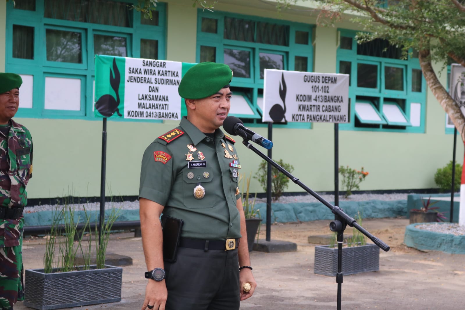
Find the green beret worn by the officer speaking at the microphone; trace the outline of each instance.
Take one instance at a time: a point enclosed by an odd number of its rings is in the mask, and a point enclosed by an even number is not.
[[[189,70],[179,83],[179,96],[185,99],[202,99],[217,93],[228,85],[233,72],[228,65],[201,62]]]

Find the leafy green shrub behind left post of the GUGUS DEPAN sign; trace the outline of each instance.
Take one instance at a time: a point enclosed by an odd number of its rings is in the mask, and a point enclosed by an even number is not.
[[[291,164],[286,164],[282,159],[276,161],[278,165],[286,169],[289,173],[294,171],[294,167]],[[263,160],[259,165],[259,171],[257,176],[253,177],[259,180],[260,185],[263,188],[263,191],[266,192],[266,171],[267,171],[267,162]],[[278,200],[279,197],[283,195],[284,190],[289,186],[289,178],[286,177],[283,173],[280,173],[275,167],[271,168],[271,196],[274,201]]]

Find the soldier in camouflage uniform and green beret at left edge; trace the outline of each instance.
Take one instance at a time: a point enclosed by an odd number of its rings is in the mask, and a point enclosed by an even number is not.
[[[32,177],[32,138],[13,121],[20,103],[18,74],[0,73],[0,310],[24,300],[22,216]]]

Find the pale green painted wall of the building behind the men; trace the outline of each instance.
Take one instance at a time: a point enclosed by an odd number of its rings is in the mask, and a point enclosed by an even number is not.
[[[197,10],[187,0],[173,0],[167,4],[166,59],[195,62]],[[250,7],[218,3],[215,10],[255,15],[273,19],[316,24],[315,17],[299,12],[277,13],[275,8],[259,1]],[[5,70],[5,1],[0,1],[0,71]],[[337,25],[356,29],[350,23]],[[336,70],[336,28],[315,26],[315,72],[334,73]],[[2,47],[3,46],[3,47]],[[435,65],[437,70],[440,65]],[[439,79],[446,84],[446,73]],[[427,91],[425,133],[403,132],[339,132],[339,165],[353,168],[363,166],[369,176],[361,190],[427,189],[435,187],[433,175],[438,167],[452,159],[453,136],[445,134],[445,112]],[[89,99],[87,99],[89,100]],[[53,198],[66,195],[94,197],[100,195],[100,162],[102,121],[77,119],[19,118],[33,135],[34,171],[28,185],[30,198]],[[139,191],[140,161],[146,146],[159,135],[178,125],[178,121],[163,124],[120,122],[108,120],[106,183],[107,194],[135,196]],[[254,131],[267,136],[266,127]],[[294,166],[293,174],[314,191],[334,190],[334,125],[314,123],[312,129],[274,129],[274,159],[282,158]],[[239,173],[255,175],[260,158],[237,139],[242,165]],[[464,151],[458,141],[457,160]],[[266,150],[263,149],[265,152]],[[239,188],[242,190],[242,188]],[[110,192],[109,192],[110,191]],[[252,179],[252,192],[263,192]],[[291,184],[287,191],[303,191]]]

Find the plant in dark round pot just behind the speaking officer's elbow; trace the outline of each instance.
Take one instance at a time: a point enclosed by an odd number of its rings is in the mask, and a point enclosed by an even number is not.
[[[252,173],[251,173],[252,176]],[[239,178],[239,182],[242,179],[242,176]],[[249,186],[250,186],[250,177],[246,179],[246,191],[244,192],[244,186],[242,186],[242,207],[244,208],[244,216],[246,218],[246,230],[247,230],[247,244],[249,247],[249,252],[253,250],[253,244],[255,242],[255,236],[260,228],[260,223],[263,220],[260,218],[260,210],[255,209],[255,200],[257,199],[257,193],[253,201],[249,200]],[[258,242],[258,236],[257,236]]]

